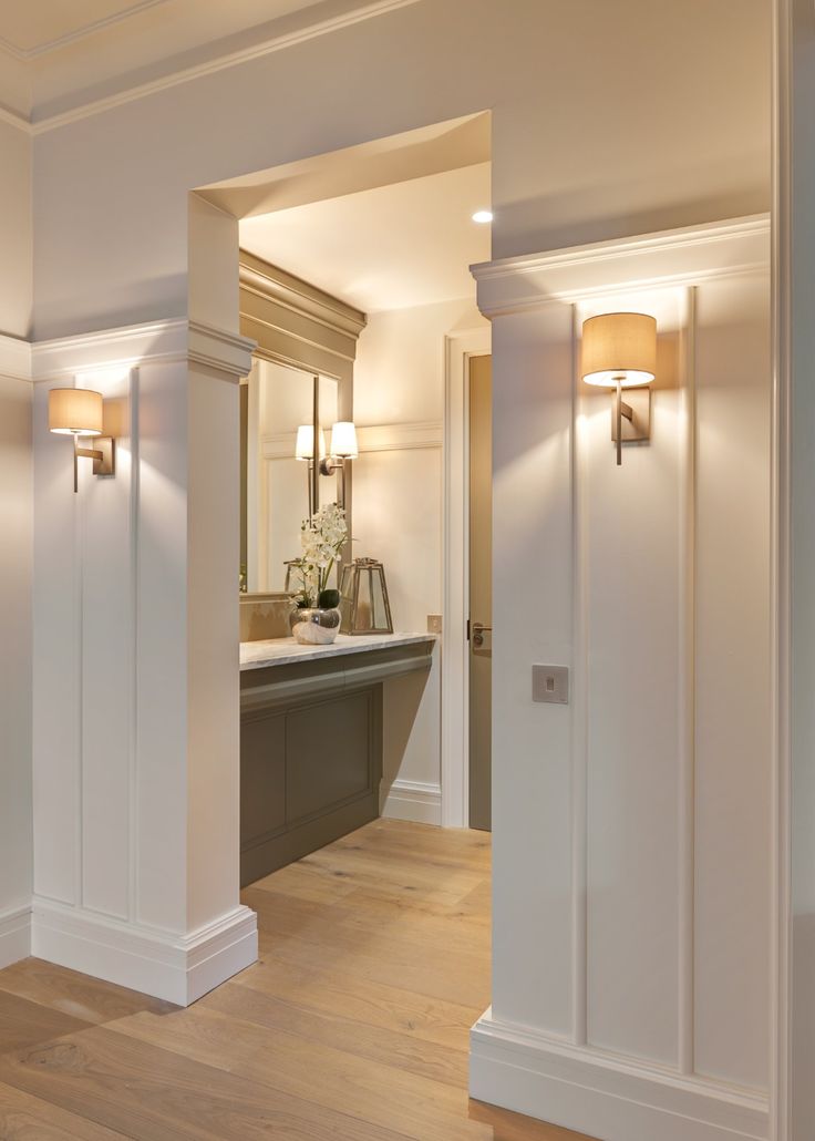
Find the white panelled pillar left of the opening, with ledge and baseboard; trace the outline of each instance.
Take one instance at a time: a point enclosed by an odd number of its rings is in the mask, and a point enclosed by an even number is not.
[[[256,953],[238,905],[237,615],[210,605],[235,583],[250,348],[177,321],[33,351],[32,952],[181,1004]],[[115,476],[81,460],[78,494],[47,422],[49,389],[74,385],[103,393],[116,440]]]

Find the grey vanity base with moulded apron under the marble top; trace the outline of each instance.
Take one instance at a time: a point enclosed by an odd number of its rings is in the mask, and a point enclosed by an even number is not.
[[[382,688],[433,640],[241,674],[241,885],[380,815]]]

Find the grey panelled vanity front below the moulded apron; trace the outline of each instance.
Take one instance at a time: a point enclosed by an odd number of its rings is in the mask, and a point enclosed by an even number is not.
[[[380,815],[382,683],[241,719],[241,883]]]

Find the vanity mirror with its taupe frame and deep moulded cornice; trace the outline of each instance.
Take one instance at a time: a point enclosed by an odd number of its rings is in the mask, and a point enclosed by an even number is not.
[[[351,529],[352,466],[345,464],[344,480],[321,475],[319,451],[321,440],[329,447],[335,423],[353,420],[353,362],[366,316],[246,250],[239,275],[241,332],[256,343],[241,385],[243,610],[258,596],[283,601],[286,564],[301,553],[303,519],[337,502],[343,487]]]

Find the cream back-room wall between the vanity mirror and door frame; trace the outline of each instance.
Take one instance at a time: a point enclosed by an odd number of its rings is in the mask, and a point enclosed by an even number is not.
[[[474,298],[368,316],[354,365],[353,553],[381,559],[398,630],[442,610],[445,338],[484,325]],[[385,816],[441,822],[441,662],[385,683]]]

